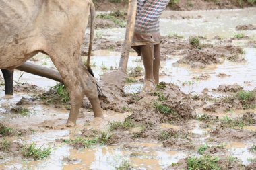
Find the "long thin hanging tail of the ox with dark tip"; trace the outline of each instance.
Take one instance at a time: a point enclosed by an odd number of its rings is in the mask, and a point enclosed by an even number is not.
[[[91,3],[90,14],[91,14],[90,42],[89,42],[89,50],[88,50],[86,67],[87,67],[89,73],[94,77],[94,73],[92,72],[92,69],[90,67],[90,58],[92,56],[92,43],[94,40],[94,29],[95,29],[94,20],[95,20],[95,16],[96,16],[94,3]]]

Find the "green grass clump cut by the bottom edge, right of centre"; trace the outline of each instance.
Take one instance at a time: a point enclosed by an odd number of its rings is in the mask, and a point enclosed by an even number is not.
[[[189,157],[187,159],[187,166],[189,170],[220,170],[218,165],[218,157],[210,155],[203,155],[202,157]]]

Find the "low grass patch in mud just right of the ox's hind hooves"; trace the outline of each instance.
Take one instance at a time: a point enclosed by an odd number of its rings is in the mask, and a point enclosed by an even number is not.
[[[125,118],[124,122],[110,122],[108,125],[108,131],[112,132],[114,130],[129,130],[135,127],[135,124],[131,118]]]

